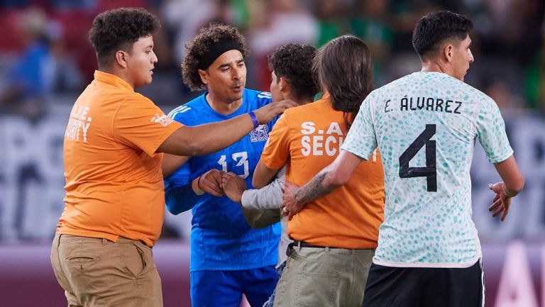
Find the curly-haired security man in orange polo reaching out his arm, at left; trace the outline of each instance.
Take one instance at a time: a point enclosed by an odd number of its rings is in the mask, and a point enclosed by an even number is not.
[[[159,27],[143,9],[116,9],[99,14],[89,31],[99,69],[70,113],[65,210],[51,252],[69,306],[163,306],[151,252],[164,216],[162,152],[220,150],[290,106],[199,127],[172,121],[134,91],[152,81]]]

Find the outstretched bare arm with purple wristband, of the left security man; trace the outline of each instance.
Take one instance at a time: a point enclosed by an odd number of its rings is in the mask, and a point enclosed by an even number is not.
[[[293,101],[277,101],[255,110],[254,113],[258,123],[263,124],[268,123],[291,106],[295,106]],[[217,123],[194,127],[182,126],[158,147],[157,152],[185,156],[207,155],[228,147],[251,130],[253,130],[253,123],[248,114]]]

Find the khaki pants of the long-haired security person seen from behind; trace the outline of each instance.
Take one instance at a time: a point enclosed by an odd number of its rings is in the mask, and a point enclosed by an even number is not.
[[[291,247],[274,307],[360,307],[375,250]]]

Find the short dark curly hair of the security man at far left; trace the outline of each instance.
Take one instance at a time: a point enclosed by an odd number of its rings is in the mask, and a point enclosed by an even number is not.
[[[161,27],[159,19],[145,9],[114,9],[99,13],[89,30],[89,42],[97,52],[99,67],[111,65],[117,50],[132,51],[133,44]]]

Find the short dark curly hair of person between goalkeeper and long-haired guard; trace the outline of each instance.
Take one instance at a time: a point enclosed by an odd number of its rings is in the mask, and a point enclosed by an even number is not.
[[[312,60],[316,48],[312,45],[287,44],[272,50],[268,55],[269,69],[274,72],[277,82],[286,79],[297,99],[313,99],[318,93],[316,74]]]

